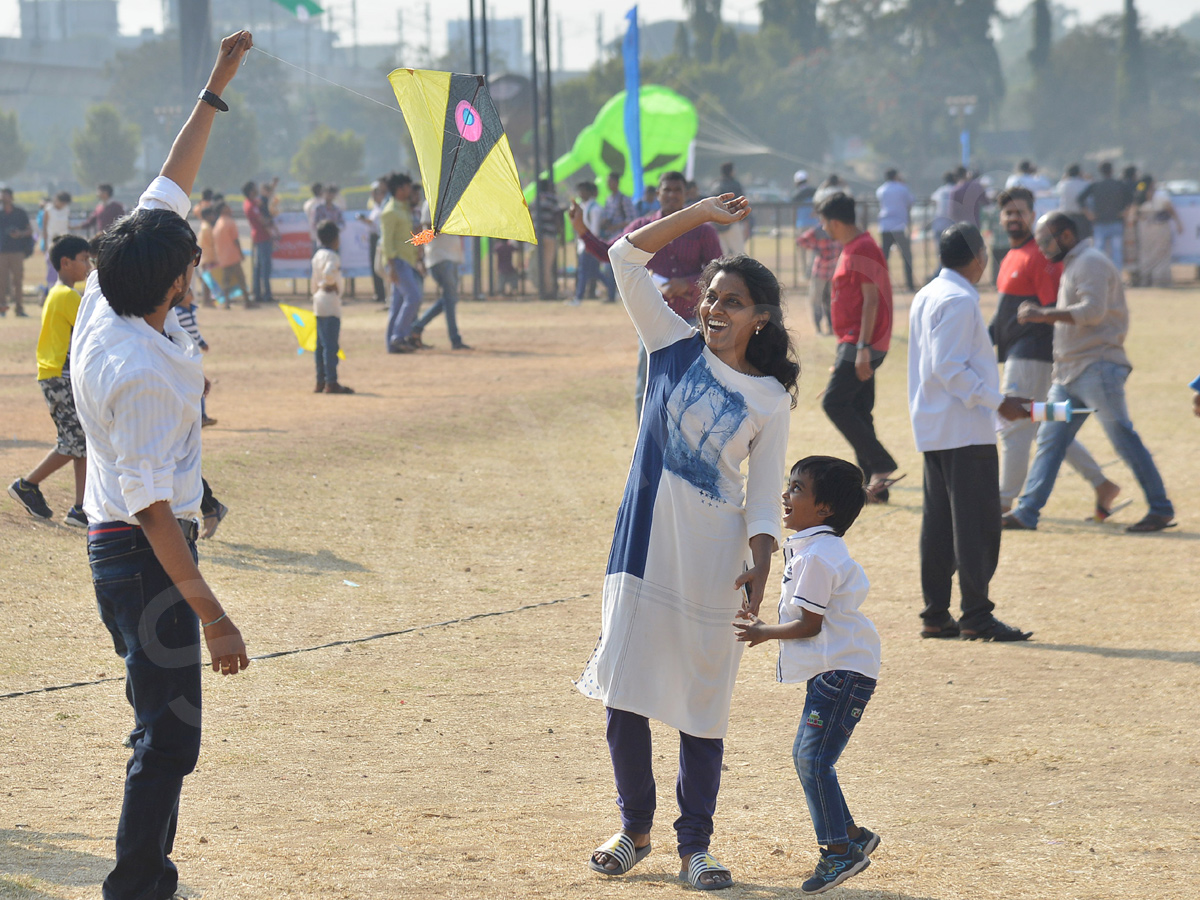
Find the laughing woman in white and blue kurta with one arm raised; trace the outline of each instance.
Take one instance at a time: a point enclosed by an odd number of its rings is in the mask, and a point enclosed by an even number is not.
[[[658,719],[679,731],[680,877],[704,890],[733,883],[708,853],[742,659],[730,623],[743,604],[762,602],[778,546],[799,366],[779,283],[761,263],[740,256],[709,264],[698,330],[671,311],[646,264],[692,228],[740,222],[749,209],[732,194],[707,199],[610,252],[649,374],[605,576],[600,641],[578,682],[607,707],[622,815],[622,830],[592,854],[590,868],[624,875],[649,852],[648,719]]]

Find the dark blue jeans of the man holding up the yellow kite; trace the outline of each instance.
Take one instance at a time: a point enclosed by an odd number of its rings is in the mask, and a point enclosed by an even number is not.
[[[190,542],[192,557],[196,545]],[[116,865],[104,900],[164,900],[179,874],[170,860],[184,776],[200,751],[200,634],[196,613],[139,528],[94,524],[88,559],[100,618],[125,658],[133,707],[133,756],[116,828]]]

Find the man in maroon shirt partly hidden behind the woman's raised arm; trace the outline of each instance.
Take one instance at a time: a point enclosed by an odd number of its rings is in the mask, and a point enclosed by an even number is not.
[[[583,210],[572,203],[570,209],[571,227],[583,241],[587,252],[596,259],[608,262],[608,247],[626,234],[636,232],[647,222],[670,216],[684,208],[688,192],[688,179],[682,172],[664,172],[659,178],[660,209],[635,218],[612,240],[601,240],[583,224]],[[692,228],[682,238],[676,238],[655,253],[646,268],[650,270],[659,284],[667,306],[691,324],[696,324],[696,307],[700,306],[700,274],[704,266],[721,256],[721,239],[710,224]],[[642,421],[642,396],[646,394],[646,347],[637,342],[637,386],[634,402],[637,408],[637,421]],[[893,467],[894,468],[894,467]]]

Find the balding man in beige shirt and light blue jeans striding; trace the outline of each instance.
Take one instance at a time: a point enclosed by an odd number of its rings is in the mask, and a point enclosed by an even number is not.
[[[1127,532],[1160,532],[1175,523],[1175,508],[1158,474],[1150,450],[1133,428],[1126,407],[1124,383],[1133,368],[1124,352],[1129,312],[1121,272],[1091,238],[1080,240],[1075,223],[1063,212],[1048,212],[1038,220],[1034,239],[1043,256],[1063,264],[1058,301],[1044,308],[1036,301],[1021,304],[1016,320],[1052,323],[1054,372],[1048,403],[1070,401],[1076,408],[1094,409],[1112,448],[1133,470],[1150,511]],[[1087,419],[1074,414],[1070,421],[1045,421],[1038,428],[1038,449],[1016,508],[1004,516],[1004,528],[1032,530],[1054,490],[1058,467],[1067,448]]]

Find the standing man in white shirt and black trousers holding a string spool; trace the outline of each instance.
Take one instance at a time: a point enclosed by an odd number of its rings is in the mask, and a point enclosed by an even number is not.
[[[925,457],[920,526],[922,637],[1025,641],[988,596],[1000,560],[1000,455],[995,414],[1030,415],[1000,391],[1000,373],[974,286],[988,269],[979,229],[942,233],[942,270],[912,301],[908,317],[908,412]],[[950,613],[959,574],[962,617]]]

